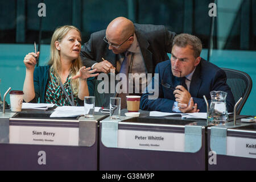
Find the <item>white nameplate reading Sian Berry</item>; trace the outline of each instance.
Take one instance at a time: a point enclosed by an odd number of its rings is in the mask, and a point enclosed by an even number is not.
[[[79,146],[79,128],[10,126],[10,143]]]

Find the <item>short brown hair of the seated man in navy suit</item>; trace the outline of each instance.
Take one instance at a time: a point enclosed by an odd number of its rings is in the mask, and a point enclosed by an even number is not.
[[[193,55],[195,58],[199,57],[202,51],[201,40],[190,34],[179,34],[175,36],[172,47],[174,47],[174,45],[178,47],[186,47],[187,45],[191,46],[194,51]]]

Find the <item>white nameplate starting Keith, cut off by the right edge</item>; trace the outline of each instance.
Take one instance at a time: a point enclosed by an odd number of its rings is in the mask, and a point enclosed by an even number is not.
[[[256,139],[227,137],[226,155],[256,158]]]

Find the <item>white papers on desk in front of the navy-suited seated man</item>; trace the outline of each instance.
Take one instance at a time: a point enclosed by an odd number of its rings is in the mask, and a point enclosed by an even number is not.
[[[207,113],[164,113],[160,111],[150,111],[150,116],[154,117],[164,117],[177,114],[181,115],[181,118],[207,119]]]

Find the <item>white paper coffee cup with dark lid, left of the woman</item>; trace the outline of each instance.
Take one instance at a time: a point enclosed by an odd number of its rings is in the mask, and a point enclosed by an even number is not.
[[[22,110],[23,95],[24,93],[21,90],[11,90],[10,92],[11,111],[19,112]]]

